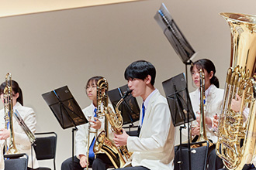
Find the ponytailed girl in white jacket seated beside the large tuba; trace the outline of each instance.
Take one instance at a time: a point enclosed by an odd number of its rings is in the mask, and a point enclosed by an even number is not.
[[[209,170],[216,170],[223,168],[223,162],[215,152],[217,136],[215,133],[216,128],[214,128],[213,119],[216,114],[220,114],[220,107],[223,101],[224,90],[219,89],[219,80],[215,76],[216,69],[212,61],[209,59],[199,59],[193,63],[190,71],[192,73],[192,80],[195,86],[198,88],[194,92],[189,93],[192,102],[192,108],[196,114],[196,121],[192,122],[192,137],[199,135],[200,131],[200,69],[202,69],[205,74],[204,115],[206,123],[206,136],[209,141],[213,142],[213,146],[209,150],[207,166]],[[188,132],[182,131],[182,134],[188,135]]]

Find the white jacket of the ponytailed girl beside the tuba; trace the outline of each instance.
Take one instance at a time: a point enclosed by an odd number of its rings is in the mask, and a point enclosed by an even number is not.
[[[205,114],[205,117],[211,118],[212,124],[213,124],[213,116],[215,114],[220,116],[224,90],[217,88],[213,84],[209,88],[210,88],[209,93],[206,96],[204,114]],[[189,93],[189,96],[190,96],[190,100],[192,103],[193,111],[194,111],[195,115],[197,116],[196,112],[200,112],[200,103],[199,103],[200,102],[200,100],[199,100],[200,99],[200,90],[199,90],[199,88],[197,90],[195,90],[194,92]],[[197,121],[193,121],[192,124],[197,124]],[[187,131],[185,131],[185,133],[186,133],[186,135],[188,134]],[[213,132],[212,126],[207,125],[207,124],[206,124],[206,134],[207,134],[207,138],[213,140],[213,143],[216,144],[218,137]]]

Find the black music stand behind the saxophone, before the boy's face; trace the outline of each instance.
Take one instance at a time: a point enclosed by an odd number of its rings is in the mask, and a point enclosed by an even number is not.
[[[124,97],[126,92],[129,90],[128,85],[123,87],[118,87],[113,90],[109,90],[109,99],[112,103],[112,106],[116,108],[118,101]],[[140,120],[140,107],[137,103],[135,97],[131,94],[124,98],[123,103],[119,105],[118,108],[121,111],[123,117],[123,124],[130,124],[129,127],[124,128],[134,128],[133,122]],[[115,110],[116,111],[116,110]]]

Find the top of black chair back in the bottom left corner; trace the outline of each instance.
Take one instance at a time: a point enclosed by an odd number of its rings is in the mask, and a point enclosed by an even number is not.
[[[28,166],[28,156],[26,154],[4,155],[5,170],[26,170]]]

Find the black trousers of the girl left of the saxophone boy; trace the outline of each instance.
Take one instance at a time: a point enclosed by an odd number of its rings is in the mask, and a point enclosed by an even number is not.
[[[92,165],[93,170],[106,170],[109,168],[109,165],[112,165],[112,162],[106,154],[98,154],[95,160],[89,158],[89,165]],[[72,157],[62,162],[61,170],[72,170]],[[80,160],[76,156],[74,156],[74,170],[84,170],[80,165]]]

